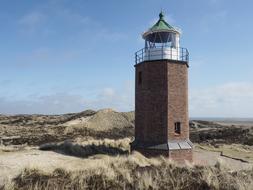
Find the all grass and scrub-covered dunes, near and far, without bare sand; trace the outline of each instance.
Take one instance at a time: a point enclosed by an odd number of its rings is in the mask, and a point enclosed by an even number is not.
[[[253,127],[222,126],[193,121],[192,142],[197,148],[218,151],[226,157],[252,163]],[[38,145],[87,161],[85,167],[26,168],[0,190],[42,189],[252,189],[253,170],[231,171],[225,164],[179,167],[163,157],[148,159],[130,154],[134,112],[85,111],[65,115],[0,115],[0,151]],[[232,144],[236,143],[236,144]],[[247,146],[247,145],[249,146]],[[81,160],[83,161],[83,160]],[[214,162],[215,163],[215,162]],[[55,166],[54,168],[60,167]],[[62,167],[62,166],[61,166]],[[0,171],[1,172],[1,171]]]

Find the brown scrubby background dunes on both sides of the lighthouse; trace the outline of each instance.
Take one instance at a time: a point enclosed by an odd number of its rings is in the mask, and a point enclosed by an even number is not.
[[[190,122],[190,139],[194,143],[253,145],[253,127],[222,126],[215,122]],[[111,109],[87,110],[64,115],[0,116],[0,140],[17,136],[5,144],[41,145],[67,139],[93,137],[121,139],[134,136],[134,112]]]

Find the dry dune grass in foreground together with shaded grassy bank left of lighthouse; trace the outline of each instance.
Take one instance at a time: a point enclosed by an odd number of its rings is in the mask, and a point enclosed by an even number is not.
[[[225,168],[222,162],[217,162],[215,166],[178,165],[164,157],[146,158],[138,152],[129,154],[130,141],[129,138],[80,138],[73,142],[45,144],[40,147],[41,150],[81,157],[87,164],[70,170],[57,168],[52,172],[42,168],[25,168],[2,189],[251,190],[253,187],[252,169],[233,171]],[[98,159],[94,156],[97,154],[102,156]]]

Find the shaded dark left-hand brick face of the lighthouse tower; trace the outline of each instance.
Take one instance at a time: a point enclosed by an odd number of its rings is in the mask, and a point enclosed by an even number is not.
[[[142,72],[142,84],[138,73]],[[167,65],[144,62],[136,67],[135,138],[141,142],[167,142]]]

